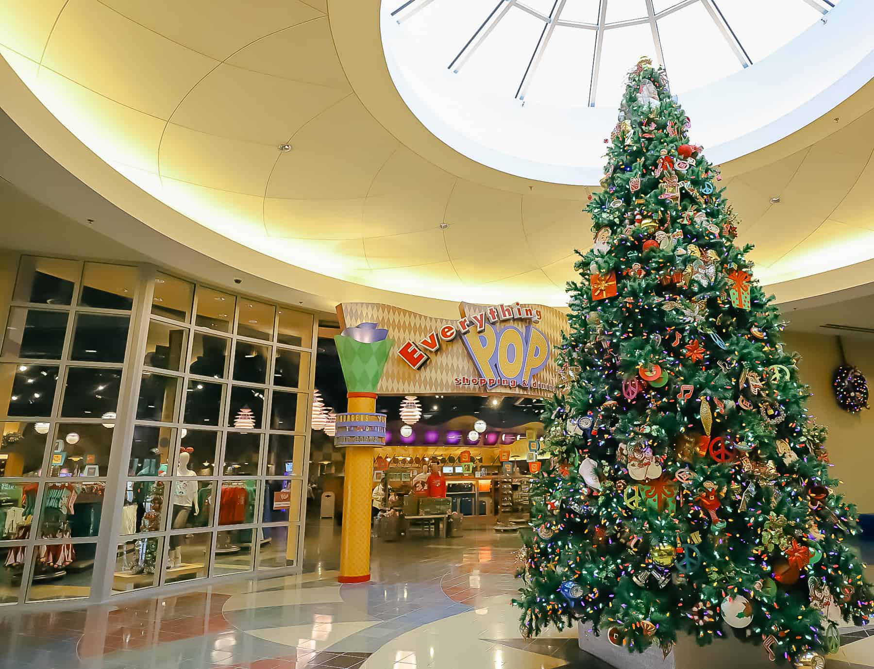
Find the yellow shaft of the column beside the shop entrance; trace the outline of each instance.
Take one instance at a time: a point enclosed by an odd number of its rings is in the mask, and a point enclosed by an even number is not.
[[[375,413],[376,393],[350,392],[349,411]],[[371,580],[371,493],[373,449],[348,446],[343,474],[343,531],[340,535],[340,583]]]

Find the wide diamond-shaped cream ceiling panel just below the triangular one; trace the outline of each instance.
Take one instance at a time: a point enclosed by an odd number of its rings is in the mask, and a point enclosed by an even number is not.
[[[172,121],[205,133],[277,147],[344,95],[336,88],[221,65],[191,90]]]

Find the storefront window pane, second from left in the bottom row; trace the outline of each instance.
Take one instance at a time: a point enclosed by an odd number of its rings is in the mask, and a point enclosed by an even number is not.
[[[28,602],[79,599],[91,595],[96,543],[50,543],[33,548]],[[73,562],[81,569],[66,569]]]

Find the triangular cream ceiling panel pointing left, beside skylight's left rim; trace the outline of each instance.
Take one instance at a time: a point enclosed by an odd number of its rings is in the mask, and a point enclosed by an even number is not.
[[[234,53],[227,62],[282,79],[330,86],[343,93],[352,90],[336,55],[328,17],[305,21],[259,39]]]

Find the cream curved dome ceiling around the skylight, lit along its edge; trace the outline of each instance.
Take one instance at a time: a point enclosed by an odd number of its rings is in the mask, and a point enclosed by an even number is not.
[[[115,172],[52,141],[15,86],[0,86],[0,104],[164,235],[336,300],[342,284],[326,276],[443,300],[565,303],[573,249],[591,243],[589,189],[489,169],[428,133],[392,86],[378,0],[12,4],[0,5],[0,55]],[[872,108],[869,85],[837,121],[723,165],[739,241],[757,245],[766,283],[874,257]],[[259,257],[271,260],[262,271]],[[288,264],[284,275],[272,259]],[[830,289],[872,275],[850,272]],[[823,285],[813,277],[795,297]]]

